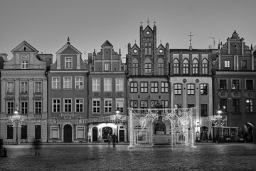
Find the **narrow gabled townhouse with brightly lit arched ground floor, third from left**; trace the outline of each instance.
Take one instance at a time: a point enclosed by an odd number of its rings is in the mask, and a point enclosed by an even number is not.
[[[121,51],[115,52],[110,41],[101,47],[88,58],[89,142],[106,142],[108,133],[115,133],[119,142],[127,142],[126,66]]]

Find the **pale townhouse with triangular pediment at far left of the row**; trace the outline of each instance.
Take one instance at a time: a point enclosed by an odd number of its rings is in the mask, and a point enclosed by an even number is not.
[[[14,48],[1,70],[1,139],[4,142],[47,141],[47,64],[51,55],[38,55],[26,41]],[[24,120],[12,120],[14,111]]]

